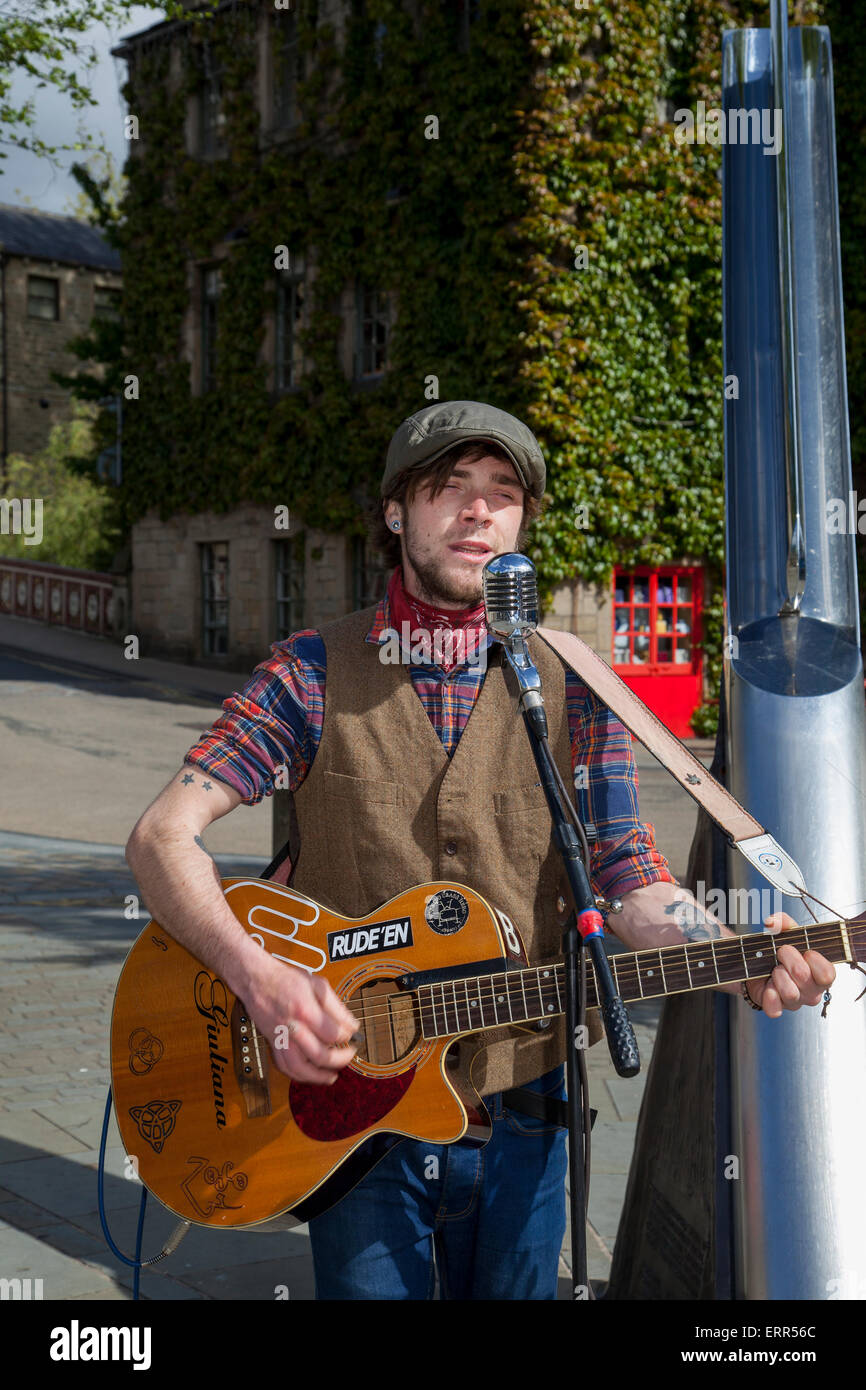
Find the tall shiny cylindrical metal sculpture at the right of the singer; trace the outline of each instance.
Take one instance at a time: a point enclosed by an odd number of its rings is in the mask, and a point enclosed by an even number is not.
[[[740,382],[726,400],[727,764],[733,794],[794,855],[830,920],[866,905],[853,534],[827,524],[830,499],[851,489],[833,65],[827,29],[787,35],[778,4],[773,17],[773,32],[723,40],[726,114],[784,113],[778,156],[730,140],[723,156],[724,370]],[[728,884],[731,926],[758,930],[777,906],[812,920],[796,899],[762,902],[740,855]],[[738,1298],[866,1297],[858,979],[837,967],[826,1019],[730,1004]]]

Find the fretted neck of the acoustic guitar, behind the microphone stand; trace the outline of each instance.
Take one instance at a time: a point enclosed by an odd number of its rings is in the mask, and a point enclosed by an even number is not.
[[[716,937],[609,958],[617,992],[626,1004],[688,994],[717,984],[760,980],[776,966],[776,948],[820,951],[828,960],[862,958],[863,923],[822,922],[783,934],[756,931],[744,937]],[[564,1013],[564,965],[502,970],[459,980],[442,980],[416,990],[424,1037],[534,1022]],[[595,970],[587,958],[587,1006],[599,1002]]]

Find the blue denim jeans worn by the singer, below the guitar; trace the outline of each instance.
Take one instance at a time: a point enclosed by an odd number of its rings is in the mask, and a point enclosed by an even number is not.
[[[530,1083],[564,1097],[564,1068]],[[317,1298],[556,1298],[566,1131],[488,1095],[475,1148],[403,1140],[310,1222]],[[435,1252],[435,1264],[434,1264]]]

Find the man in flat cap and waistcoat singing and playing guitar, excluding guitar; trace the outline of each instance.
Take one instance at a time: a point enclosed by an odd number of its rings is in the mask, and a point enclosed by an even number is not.
[[[395,562],[386,596],[274,644],[129,838],[153,916],[243,999],[264,1037],[288,1027],[272,1061],[297,1081],[334,1084],[354,1056],[356,1019],[321,976],[254,944],[200,840],[240,802],[268,795],[281,769],[300,827],[300,892],[363,916],[413,883],[466,883],[513,916],[531,963],[560,954],[567,906],[546,803],[523,730],[513,734],[481,606],[482,566],[520,549],[544,489],[538,442],[502,410],[441,402],[405,421],[388,449],[375,538]],[[549,649],[539,670],[560,771],[570,781],[584,771],[594,890],[623,902],[617,937],[641,949],[731,935],[678,887],[638,820],[623,724]],[[784,913],[766,924],[795,926]],[[776,1019],[817,1004],[835,977],[815,951],[781,945],[777,959],[766,980],[720,988]],[[446,1298],[556,1297],[564,1131],[507,1099],[520,1088],[564,1094],[564,1031],[518,1031],[457,1044],[457,1066],[471,1069],[491,1112],[487,1145],[403,1140],[310,1222],[318,1298],[428,1298],[434,1257]]]

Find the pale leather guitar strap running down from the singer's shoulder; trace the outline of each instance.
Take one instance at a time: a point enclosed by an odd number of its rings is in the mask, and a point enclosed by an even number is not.
[[[774,887],[791,897],[802,897],[803,876],[794,859],[777,845],[759,820],[745,810],[730,791],[716,781],[694,753],[664,727],[626,681],[573,632],[539,627],[537,635],[562,656],[566,666],[599,696],[607,709],[678,781],[688,795],[703,806],[726,833],[734,848]]]

